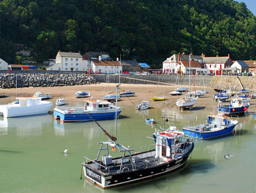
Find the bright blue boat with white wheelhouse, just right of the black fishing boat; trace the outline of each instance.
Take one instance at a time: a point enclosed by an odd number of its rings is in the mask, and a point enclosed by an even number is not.
[[[209,115],[207,123],[196,126],[185,126],[183,132],[187,137],[207,140],[232,133],[237,124],[238,120],[232,120],[227,116]]]

